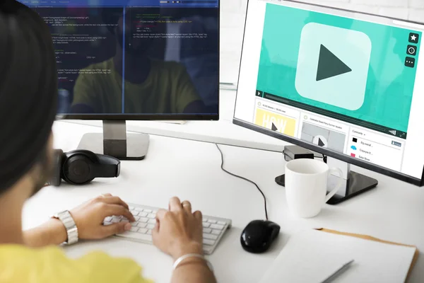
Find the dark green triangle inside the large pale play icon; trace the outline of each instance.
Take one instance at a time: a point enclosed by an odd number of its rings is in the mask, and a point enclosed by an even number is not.
[[[338,59],[338,57],[324,45],[321,45],[319,50],[317,81],[346,74],[350,71],[352,71],[352,69],[349,68],[348,65],[344,64],[341,59]]]

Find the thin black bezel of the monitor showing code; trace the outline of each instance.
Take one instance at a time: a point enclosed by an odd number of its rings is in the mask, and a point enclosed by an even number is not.
[[[58,114],[59,120],[107,120],[107,121],[218,121],[220,112],[220,2],[218,0],[218,112],[215,113],[181,113],[181,114]]]

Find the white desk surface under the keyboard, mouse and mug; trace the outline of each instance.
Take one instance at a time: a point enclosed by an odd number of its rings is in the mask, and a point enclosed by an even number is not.
[[[100,132],[98,127],[57,122],[55,146],[75,149],[82,134]],[[325,227],[365,233],[388,241],[416,245],[424,250],[424,190],[377,173],[377,189],[337,206],[326,205],[314,219],[295,219],[288,213],[284,188],[274,183],[283,173],[282,154],[222,146],[225,168],[258,183],[268,200],[271,221],[281,225],[281,234],[269,252],[253,255],[242,250],[240,233],[254,219],[264,219],[263,200],[256,187],[220,170],[215,145],[151,136],[144,161],[123,161],[119,178],[99,179],[90,185],[46,187],[28,200],[23,212],[24,229],[41,224],[54,212],[110,192],[128,202],[167,207],[170,197],[192,201],[206,215],[232,219],[232,229],[209,257],[218,282],[256,283],[276,258],[288,237],[300,229]],[[360,172],[361,169],[354,168]],[[154,246],[118,238],[78,243],[66,253],[78,257],[91,250],[133,258],[155,282],[169,282],[172,261]],[[419,258],[410,282],[424,282],[424,260]]]

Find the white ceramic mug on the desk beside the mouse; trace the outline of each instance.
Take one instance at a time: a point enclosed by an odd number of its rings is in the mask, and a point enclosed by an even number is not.
[[[328,177],[338,175],[338,184],[326,195]],[[326,202],[340,189],[343,173],[339,168],[329,168],[326,163],[302,158],[285,165],[285,197],[288,208],[295,216],[310,218],[321,212]]]

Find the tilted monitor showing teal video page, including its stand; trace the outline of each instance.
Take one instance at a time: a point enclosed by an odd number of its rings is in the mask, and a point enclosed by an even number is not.
[[[249,0],[233,122],[328,156],[341,202],[424,169],[424,25],[295,1]]]

